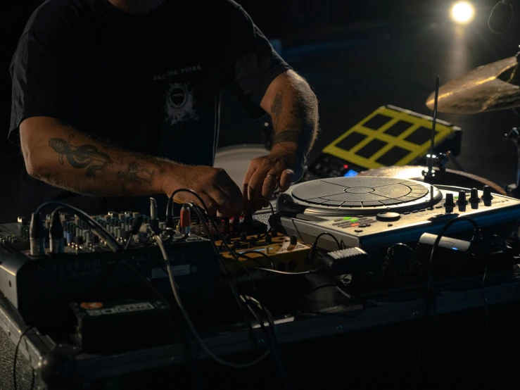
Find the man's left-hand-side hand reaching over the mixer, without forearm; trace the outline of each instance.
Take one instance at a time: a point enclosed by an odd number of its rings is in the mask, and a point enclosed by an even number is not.
[[[165,175],[163,191],[171,196],[176,189],[191,189],[203,199],[211,215],[238,217],[242,213],[243,200],[239,187],[222,168],[206,166],[175,165],[172,175]],[[179,192],[174,201],[183,203],[200,201],[189,192]]]

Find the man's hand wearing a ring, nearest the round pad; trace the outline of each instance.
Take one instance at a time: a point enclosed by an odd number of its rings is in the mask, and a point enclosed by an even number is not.
[[[261,198],[270,199],[277,188],[286,191],[297,178],[295,168],[300,170],[301,162],[297,160],[294,151],[273,151],[251,161],[243,178],[244,213],[265,207],[262,202],[253,203]]]

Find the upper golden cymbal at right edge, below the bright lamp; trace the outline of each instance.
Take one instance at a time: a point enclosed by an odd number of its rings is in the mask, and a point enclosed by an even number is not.
[[[517,65],[516,57],[505,58],[443,84],[439,88],[438,112],[474,114],[520,107],[520,87],[510,83]],[[434,100],[435,92],[426,100],[431,110]]]

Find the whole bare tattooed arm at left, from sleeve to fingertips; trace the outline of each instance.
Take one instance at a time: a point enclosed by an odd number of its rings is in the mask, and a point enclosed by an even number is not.
[[[20,143],[32,177],[69,191],[148,196],[189,188],[201,195],[212,213],[220,210],[234,216],[242,210],[240,190],[224,170],[114,148],[55,118],[24,120]],[[186,200],[196,201],[186,194],[175,197],[175,201]]]

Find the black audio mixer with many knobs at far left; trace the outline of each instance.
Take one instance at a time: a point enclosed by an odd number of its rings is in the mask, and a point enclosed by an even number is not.
[[[135,218],[144,225],[132,235]],[[49,239],[51,215],[42,221],[42,248],[36,256],[30,246],[27,218],[0,225],[0,291],[20,311],[27,323],[34,321],[38,309],[49,303],[91,301],[94,297],[149,298],[150,291],[118,256],[80,218],[59,215],[66,243],[56,251]],[[170,260],[179,291],[186,303],[202,303],[215,297],[220,282],[220,263],[209,239],[196,234],[180,234],[165,227],[165,222],[139,213],[96,215],[97,220],[120,244],[132,237],[124,258],[142,277],[164,296],[172,290],[165,260],[146,228],[157,225]],[[146,223],[148,222],[148,223]],[[58,253],[53,253],[56,251]],[[61,253],[59,253],[61,252]],[[40,310],[41,311],[41,310]]]

